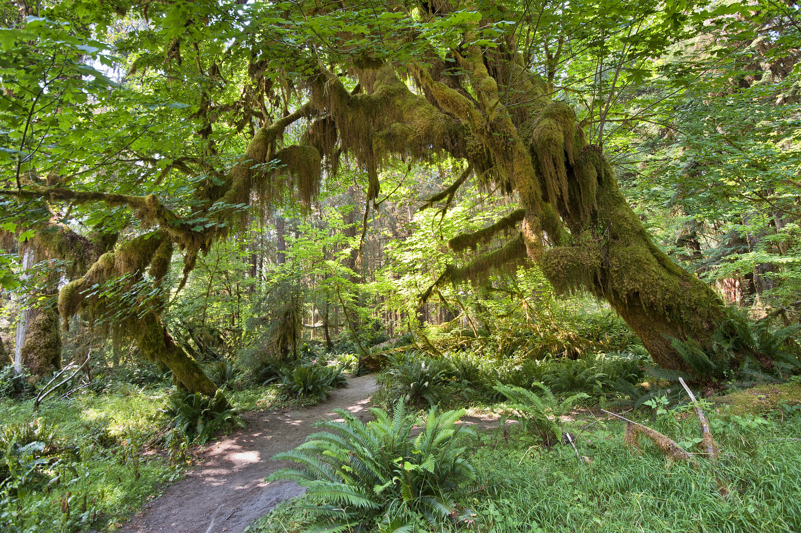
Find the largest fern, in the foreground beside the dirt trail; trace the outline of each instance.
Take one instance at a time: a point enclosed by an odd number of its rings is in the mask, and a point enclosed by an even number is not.
[[[372,531],[377,523],[411,531],[421,519],[435,527],[445,523],[456,507],[457,485],[473,479],[465,448],[453,446],[460,431],[472,434],[455,424],[465,411],[437,414],[433,407],[417,418],[403,402],[392,416],[371,411],[376,420],[367,424],[346,410],[336,411],[344,422],[317,422],[324,431],[273,457],[300,466],[277,470],[268,480],[295,480],[308,495],[323,499],[311,509],[315,526],[328,531]],[[423,430],[413,437],[416,424]]]

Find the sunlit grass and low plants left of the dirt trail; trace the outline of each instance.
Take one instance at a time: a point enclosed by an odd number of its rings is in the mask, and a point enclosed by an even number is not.
[[[74,472],[62,462],[48,467],[49,483],[26,487],[10,499],[0,491],[0,531],[116,531],[189,466],[170,464],[159,447],[167,423],[161,411],[166,386],[115,384],[103,394],[82,392],[71,402],[48,399],[36,414],[32,400],[0,399],[3,427],[42,418],[54,424],[56,442],[78,450],[70,464]],[[228,391],[227,396],[240,411],[298,403],[280,396],[276,386]]]

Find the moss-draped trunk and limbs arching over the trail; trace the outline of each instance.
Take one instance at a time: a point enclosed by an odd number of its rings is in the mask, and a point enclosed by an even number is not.
[[[424,7],[431,16],[453,10],[449,2]],[[472,41],[469,37],[465,34],[465,42]],[[184,252],[185,281],[199,253],[247,220],[243,207],[270,204],[288,192],[308,206],[321,180],[336,176],[341,157],[364,170],[368,202],[375,202],[379,173],[389,159],[425,160],[445,153],[465,160],[468,173],[516,195],[520,204],[496,224],[457,237],[452,247],[476,248],[518,224],[519,231],[496,251],[449,267],[437,284],[475,279],[492,268],[533,260],[557,290],[587,290],[608,301],[642,338],[654,361],[681,369],[683,363],[666,336],[706,341],[721,318],[716,294],[653,244],[604,155],[588,143],[570,106],[551,99],[552,88],[516,51],[513,35],[495,48],[465,45],[450,50],[447,59],[453,64],[437,55],[386,63],[360,50],[358,58],[340,65],[359,78],[352,91],[327,62],[305,64],[297,69],[304,74],[296,72],[292,81],[300,98],[308,101],[292,112],[285,106],[285,116],[272,123],[265,116],[231,168],[204,169],[210,177],[199,184],[199,201],[187,216],[176,215],[155,194],[43,186],[4,192],[73,204],[125,205],[143,228],[154,229],[99,256],[83,277],[66,285],[58,302],[62,317],[115,305],[87,290],[96,283],[122,276],[133,283],[149,272],[158,285],[176,248]],[[300,142],[285,145],[284,131],[300,119],[308,119]],[[466,178],[442,198],[452,200]],[[198,230],[189,222],[198,217],[220,224]],[[190,390],[212,391],[210,382],[195,376],[191,358],[173,348],[158,305],[140,315],[127,320],[143,353],[175,366],[176,377]]]

